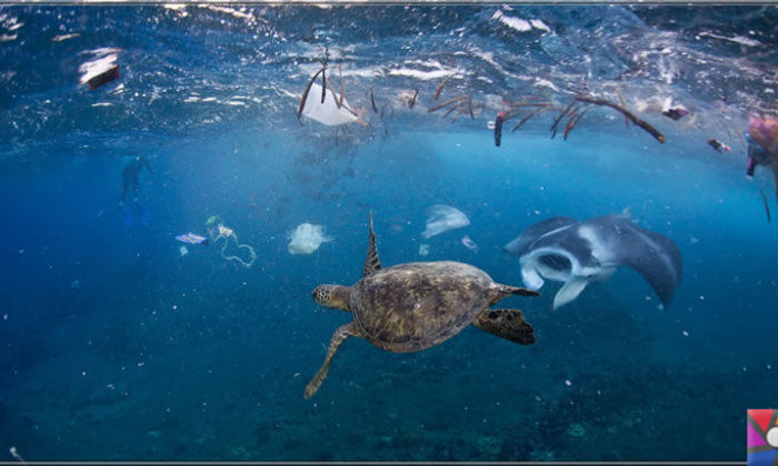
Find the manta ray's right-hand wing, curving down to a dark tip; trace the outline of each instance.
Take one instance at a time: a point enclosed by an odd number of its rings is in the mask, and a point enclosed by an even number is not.
[[[592,255],[602,265],[626,265],[646,278],[662,304],[672,300],[682,272],[680,251],[672,240],[617,215],[587,220],[581,229],[585,236],[594,232]]]

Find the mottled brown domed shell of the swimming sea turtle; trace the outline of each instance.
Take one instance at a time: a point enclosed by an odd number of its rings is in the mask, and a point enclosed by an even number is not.
[[[351,287],[349,305],[360,334],[405,353],[437,345],[489,306],[495,282],[460,262],[415,262],[382,269]]]

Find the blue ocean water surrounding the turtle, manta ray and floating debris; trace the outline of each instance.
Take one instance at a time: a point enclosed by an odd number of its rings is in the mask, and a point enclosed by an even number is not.
[[[742,139],[776,113],[776,24],[758,6],[0,7],[0,459],[744,460],[746,409],[778,393],[759,191],[778,209]],[[79,83],[108,54],[120,77]],[[325,58],[368,126],[298,123]],[[594,108],[566,140],[557,111],[495,145],[509,102],[581,93],[667,141]],[[457,97],[473,118],[429,111]],[[151,170],[120,205],[138,155]],[[435,204],[470,224],[425,240]],[[502,247],[523,229],[627,207],[680,250],[668,306],[627,267],[557,310],[549,281],[500,303],[535,345],[350,338],[303,399],[351,320],[310,292],[360,278],[370,211],[385,267],[461,261],[522,285]],[[181,254],[213,215],[250,267],[223,240]],[[332,241],[292,255],[303,222]]]

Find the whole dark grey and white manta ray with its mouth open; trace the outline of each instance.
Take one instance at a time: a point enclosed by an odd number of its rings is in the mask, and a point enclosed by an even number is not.
[[[565,283],[553,297],[553,308],[578,297],[589,282],[610,277],[621,265],[642,275],[662,305],[670,303],[681,278],[678,246],[636,225],[628,214],[582,222],[555,216],[529,226],[505,250],[519,256],[528,287],[540,290],[543,277]]]

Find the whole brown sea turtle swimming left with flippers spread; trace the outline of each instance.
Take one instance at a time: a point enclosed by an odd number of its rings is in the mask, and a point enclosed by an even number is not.
[[[313,301],[353,314],[332,334],[327,357],[306,386],[319,389],[332,356],[349,336],[359,336],[393,353],[422,351],[473,326],[522,345],[535,343],[532,326],[518,310],[490,310],[511,294],[538,292],[495,283],[486,272],[461,262],[412,262],[381,269],[370,213],[370,240],[362,278],[353,286],[319,285]]]

